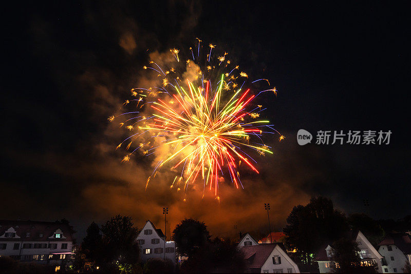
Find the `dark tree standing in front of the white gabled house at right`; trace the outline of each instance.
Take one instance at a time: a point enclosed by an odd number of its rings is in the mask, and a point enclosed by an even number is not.
[[[357,242],[341,238],[332,243],[331,271],[338,273],[375,273],[376,268],[362,266]]]

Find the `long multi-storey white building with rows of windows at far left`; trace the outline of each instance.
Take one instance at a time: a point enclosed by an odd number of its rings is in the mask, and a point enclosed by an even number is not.
[[[73,248],[71,227],[63,222],[0,220],[0,257],[22,262],[70,264]]]

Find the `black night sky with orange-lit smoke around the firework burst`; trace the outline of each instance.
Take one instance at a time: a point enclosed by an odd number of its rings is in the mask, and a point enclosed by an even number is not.
[[[0,219],[66,218],[87,225],[128,214],[136,225],[198,218],[214,236],[281,229],[294,205],[325,195],[349,214],[401,218],[409,197],[409,2],[52,2],[3,16]],[[217,45],[277,97],[266,115],[286,139],[244,190],[218,205],[181,202],[165,183],[144,192],[147,166],[120,164],[107,117],[142,77],[148,52]],[[407,99],[408,98],[408,99]],[[389,145],[298,146],[296,132],[391,130]],[[314,136],[315,137],[315,136]],[[116,139],[117,138],[117,139]],[[274,139],[273,139],[274,143]],[[164,181],[167,181],[164,174]],[[363,200],[369,200],[364,207]]]

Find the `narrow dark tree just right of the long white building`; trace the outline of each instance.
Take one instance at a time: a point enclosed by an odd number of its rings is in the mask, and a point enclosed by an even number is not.
[[[87,235],[83,239],[81,249],[87,259],[99,261],[102,249],[102,237],[100,234],[99,225],[92,222],[87,228]]]

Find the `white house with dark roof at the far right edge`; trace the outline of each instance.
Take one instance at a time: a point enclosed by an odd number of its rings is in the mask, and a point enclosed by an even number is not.
[[[405,264],[411,264],[411,237],[407,233],[388,233],[378,244],[384,256],[383,272],[402,273]]]

